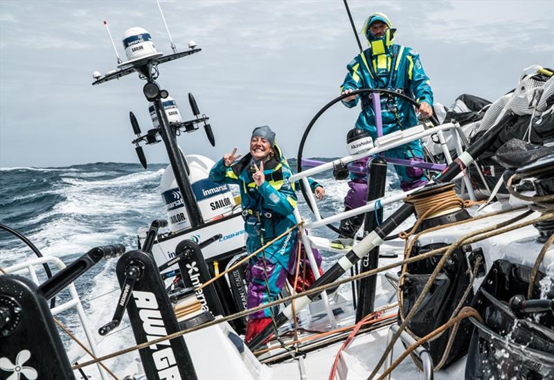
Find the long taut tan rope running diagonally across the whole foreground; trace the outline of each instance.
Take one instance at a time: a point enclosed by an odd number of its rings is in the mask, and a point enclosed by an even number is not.
[[[554,217],[554,212],[548,212],[548,214],[542,215],[541,217],[537,217],[536,219],[531,219],[531,220],[528,220],[528,221],[522,221],[521,223],[515,224],[513,226],[509,226],[509,227],[506,227],[506,228],[501,228],[499,230],[492,231],[490,233],[485,233],[483,235],[472,237],[470,239],[467,239],[467,241],[465,241],[465,244],[472,244],[474,242],[479,242],[483,239],[488,239],[489,237],[492,237],[492,236],[495,236],[495,235],[500,235],[502,233],[507,233],[507,232],[510,232],[512,230],[516,230],[518,228],[522,228],[522,227],[529,226],[531,224],[535,224],[538,221],[544,221],[544,220],[552,219],[553,217]],[[229,316],[225,316],[223,318],[218,318],[216,320],[212,320],[211,322],[207,322],[207,323],[204,323],[202,325],[197,325],[195,327],[190,327],[188,329],[181,330],[180,332],[175,332],[175,333],[170,334],[170,335],[162,336],[161,338],[156,338],[152,341],[141,343],[139,345],[134,345],[132,347],[127,347],[124,350],[120,350],[120,351],[117,351],[117,352],[113,352],[111,354],[107,354],[105,356],[101,356],[100,358],[98,358],[96,360],[87,361],[87,362],[81,363],[79,365],[73,365],[73,370],[76,370],[76,369],[82,368],[82,367],[86,367],[87,365],[94,364],[97,361],[111,359],[115,356],[120,356],[120,355],[123,355],[123,354],[127,354],[128,352],[141,350],[145,347],[150,347],[151,345],[155,345],[155,344],[161,343],[163,341],[168,341],[170,339],[175,339],[175,338],[178,338],[179,336],[183,336],[185,334],[189,334],[191,332],[195,332],[195,331],[198,331],[200,329],[205,329],[206,327],[211,327],[213,325],[219,325],[220,323],[227,322],[228,320],[234,320],[234,319],[237,319],[237,318],[242,318],[244,316],[247,316],[248,314],[252,314],[253,312],[266,309],[267,307],[274,307],[276,305],[280,305],[282,303],[289,302],[289,301],[294,300],[296,298],[301,298],[301,297],[304,297],[304,296],[310,296],[312,294],[321,293],[321,291],[324,291],[325,289],[330,289],[332,287],[337,287],[337,285],[346,284],[348,282],[359,280],[361,278],[366,278],[366,277],[369,277],[371,275],[376,275],[377,273],[388,271],[388,269],[393,269],[397,266],[402,266],[403,264],[411,264],[412,262],[418,262],[420,260],[425,260],[425,259],[431,257],[432,255],[438,255],[440,253],[443,253],[443,252],[447,251],[447,248],[449,248],[449,246],[445,246],[443,248],[438,248],[438,249],[435,249],[433,251],[429,251],[427,253],[423,253],[422,255],[418,255],[418,256],[415,256],[415,257],[410,257],[407,260],[400,260],[399,262],[393,262],[391,264],[381,266],[381,267],[379,267],[377,269],[373,269],[371,271],[359,273],[358,275],[343,278],[342,280],[337,280],[337,281],[332,282],[330,284],[323,284],[319,287],[314,287],[313,289],[308,289],[306,291],[303,291],[302,293],[297,293],[294,296],[283,297],[280,300],[274,300],[274,301],[268,302],[266,304],[253,307],[251,309],[243,310],[243,311],[240,311],[238,313],[231,314]]]

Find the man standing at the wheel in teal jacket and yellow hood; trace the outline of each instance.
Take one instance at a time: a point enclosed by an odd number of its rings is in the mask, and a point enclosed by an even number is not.
[[[393,44],[396,29],[392,28],[391,20],[384,13],[371,14],[364,23],[361,32],[368,39],[369,48],[360,53],[346,67],[348,73],[341,86],[341,93],[351,93],[359,89],[388,89],[402,93],[415,99],[419,104],[422,117],[431,116],[433,92],[429,78],[425,75],[418,53],[411,48]],[[348,96],[343,99],[346,107],[355,107],[360,97]],[[410,102],[393,96],[381,96],[383,134],[390,134],[401,129],[418,124],[415,109]],[[368,96],[361,98],[361,112],[356,121],[356,127],[368,132],[375,140],[375,111]],[[422,161],[423,150],[420,141],[401,145],[384,152],[386,157],[396,159],[415,159]],[[366,166],[366,161],[358,161],[357,165]],[[423,171],[419,168],[395,165],[400,177],[400,188],[410,190],[427,183]],[[350,190],[344,199],[346,210],[366,204],[367,181],[361,174],[350,174],[348,182]],[[352,238],[364,215],[357,215],[341,222],[341,235]]]

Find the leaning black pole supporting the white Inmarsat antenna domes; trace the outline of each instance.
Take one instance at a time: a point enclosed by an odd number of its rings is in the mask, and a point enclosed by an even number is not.
[[[163,110],[161,99],[154,100],[154,109],[156,109],[156,114],[160,124],[160,136],[163,143],[166,145],[169,162],[171,163],[173,174],[175,174],[177,187],[181,192],[181,197],[183,197],[186,212],[190,218],[190,225],[193,228],[202,226],[204,224],[204,219],[202,218],[202,214],[200,213],[200,209],[196,203],[193,187],[190,185],[185,168],[185,161],[183,156],[181,156],[181,152],[179,152],[179,145],[177,145],[175,134],[169,125],[168,116],[166,115],[166,112],[161,111]]]

